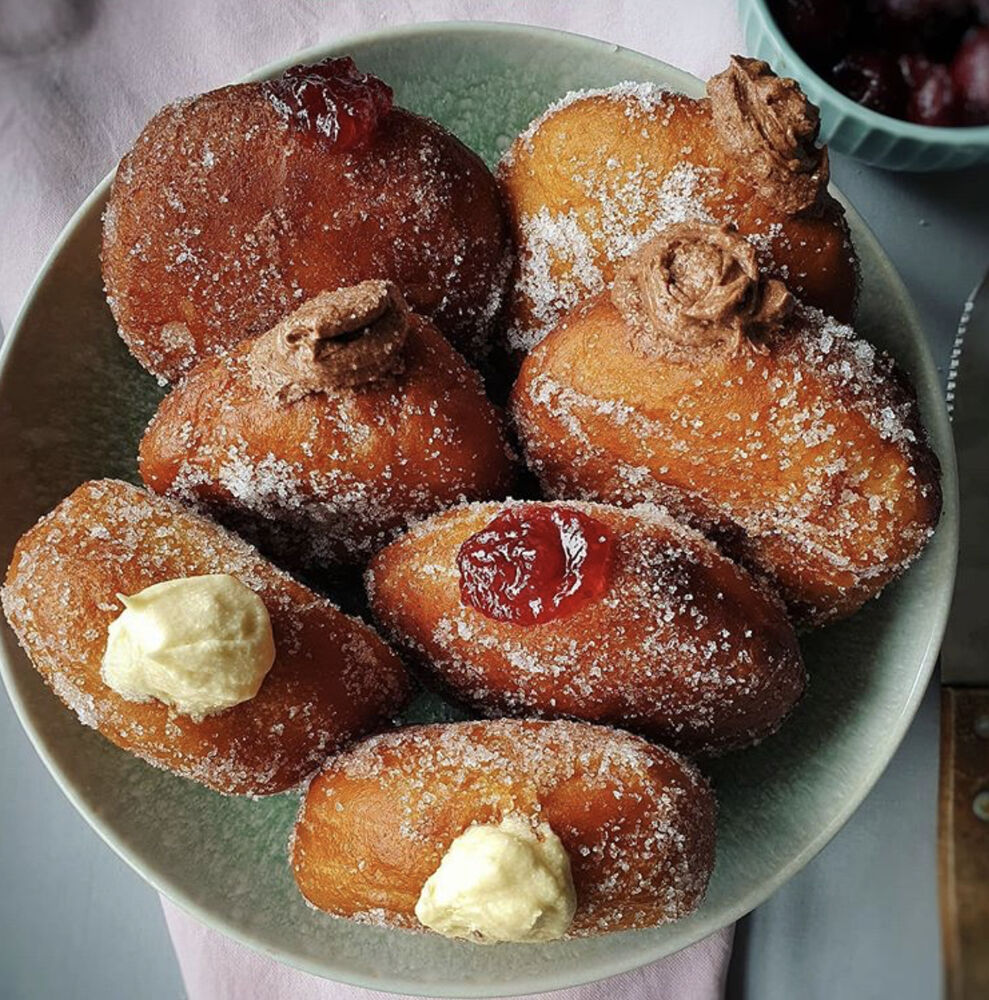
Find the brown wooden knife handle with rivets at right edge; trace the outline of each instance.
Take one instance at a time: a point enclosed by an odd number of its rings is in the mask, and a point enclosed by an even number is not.
[[[939,798],[945,995],[947,1000],[985,1000],[989,997],[989,688],[941,689]]]

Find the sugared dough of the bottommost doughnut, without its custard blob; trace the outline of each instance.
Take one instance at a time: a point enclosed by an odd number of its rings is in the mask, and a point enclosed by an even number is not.
[[[510,719],[415,726],[364,741],[313,779],[292,869],[322,910],[421,930],[424,885],[453,842],[514,819],[562,844],[576,909],[561,934],[586,936],[696,909],[714,863],[714,814],[690,764],[628,733]],[[487,853],[463,877],[498,860]],[[498,867],[513,874],[510,864]],[[477,906],[465,896],[465,908]],[[471,930],[483,939],[477,925]]]

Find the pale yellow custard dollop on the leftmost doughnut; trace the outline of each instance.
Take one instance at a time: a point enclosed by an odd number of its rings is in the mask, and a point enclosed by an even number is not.
[[[253,698],[275,662],[264,602],[226,573],[117,595],[103,680],[128,701],[164,702],[200,720]]]

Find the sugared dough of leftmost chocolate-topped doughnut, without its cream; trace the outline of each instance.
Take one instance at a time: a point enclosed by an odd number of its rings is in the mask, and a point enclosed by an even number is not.
[[[401,372],[288,405],[252,381],[248,350],[202,363],[166,397],[141,475],[273,555],[362,562],[412,520],[511,488],[501,411],[424,320],[411,319]]]

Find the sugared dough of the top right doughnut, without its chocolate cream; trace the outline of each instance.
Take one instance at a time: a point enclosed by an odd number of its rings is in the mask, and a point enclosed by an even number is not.
[[[575,91],[498,166],[516,242],[509,346],[531,350],[610,287],[615,266],[676,222],[736,225],[760,263],[813,305],[850,319],[857,266],[840,206],[788,216],[722,147],[707,100],[649,83]]]

